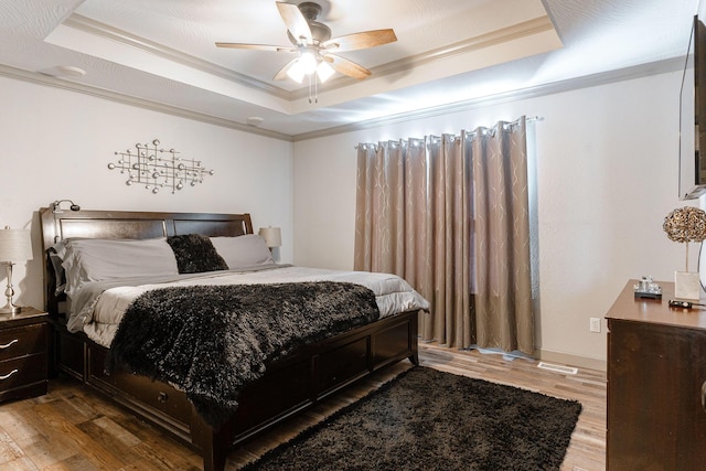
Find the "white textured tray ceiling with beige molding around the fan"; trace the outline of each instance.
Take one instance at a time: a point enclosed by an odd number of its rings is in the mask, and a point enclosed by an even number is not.
[[[680,57],[697,10],[697,0],[318,3],[333,36],[392,28],[398,41],[342,53],[373,75],[336,74],[317,103],[306,82],[272,79],[290,54],[215,47],[290,45],[274,0],[0,0],[0,64],[223,122],[259,117],[259,130],[296,137]]]

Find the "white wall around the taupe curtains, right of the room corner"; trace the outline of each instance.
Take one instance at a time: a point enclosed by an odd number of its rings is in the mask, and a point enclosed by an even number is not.
[[[458,132],[522,115],[536,141],[542,356],[605,367],[602,318],[630,278],[673,280],[662,231],[677,199],[681,73],[661,74],[295,143],[295,263],[351,269],[360,141]],[[689,268],[696,270],[696,246]]]

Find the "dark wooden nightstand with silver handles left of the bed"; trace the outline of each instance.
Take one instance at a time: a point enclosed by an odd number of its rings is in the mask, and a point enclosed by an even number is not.
[[[46,312],[0,314],[0,402],[46,394],[49,340]]]

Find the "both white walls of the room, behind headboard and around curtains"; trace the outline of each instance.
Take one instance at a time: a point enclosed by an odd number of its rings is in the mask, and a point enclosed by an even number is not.
[[[601,318],[629,278],[671,280],[684,268],[684,246],[662,231],[664,216],[685,204],[676,197],[680,83],[680,73],[661,74],[301,141],[292,150],[286,141],[0,77],[0,224],[31,227],[35,249],[34,260],[15,266],[15,301],[42,304],[36,211],[56,199],[93,210],[250,212],[256,229],[282,227],[281,261],[350,269],[357,142],[541,116],[530,128],[538,184],[537,341],[546,358],[600,364],[605,329],[590,333],[589,318]],[[216,174],[153,195],[107,169],[114,151],[154,138]],[[694,270],[696,247],[691,251]]]

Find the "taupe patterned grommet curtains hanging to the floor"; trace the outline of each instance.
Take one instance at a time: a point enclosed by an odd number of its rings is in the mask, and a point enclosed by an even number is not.
[[[524,117],[357,146],[356,270],[431,302],[425,341],[534,352]]]

